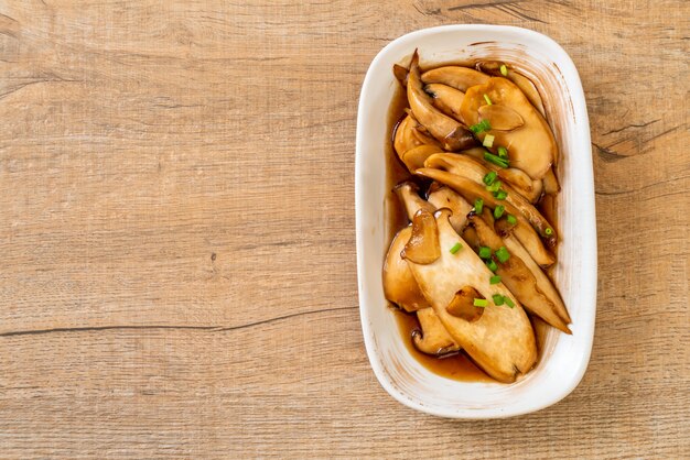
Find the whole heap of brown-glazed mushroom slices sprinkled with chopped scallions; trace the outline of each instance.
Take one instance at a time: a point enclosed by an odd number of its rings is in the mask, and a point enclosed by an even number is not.
[[[401,222],[384,293],[416,316],[406,340],[439,362],[468,357],[498,382],[538,361],[543,321],[571,333],[558,264],[558,144],[537,86],[502,62],[395,65],[392,154]]]

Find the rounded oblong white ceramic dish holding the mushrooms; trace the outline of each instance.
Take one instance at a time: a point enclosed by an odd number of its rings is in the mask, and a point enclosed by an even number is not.
[[[550,330],[538,365],[514,384],[457,382],[433,374],[407,350],[381,286],[387,250],[384,201],[387,114],[396,86],[392,65],[497,59],[516,65],[537,84],[561,158],[561,241],[554,282],[572,317],[572,336]],[[367,72],[357,117],[355,162],[357,275],[362,329],[380,384],[402,404],[455,418],[498,418],[539,410],[572,392],[590,359],[596,311],[596,226],[590,125],[572,61],[551,39],[519,28],[446,25],[412,32],[388,44]]]

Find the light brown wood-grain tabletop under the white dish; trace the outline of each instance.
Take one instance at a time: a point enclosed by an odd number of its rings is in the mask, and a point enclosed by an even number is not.
[[[0,457],[688,458],[689,4],[0,2]],[[401,406],[360,332],[359,87],[451,23],[552,36],[592,123],[592,360],[514,419]]]

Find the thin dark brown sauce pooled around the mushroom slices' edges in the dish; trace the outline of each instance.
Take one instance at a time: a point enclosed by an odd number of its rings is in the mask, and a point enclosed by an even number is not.
[[[453,64],[444,64],[444,65],[462,65],[465,67],[474,68],[472,63],[453,63]],[[405,208],[400,204],[398,197],[396,196],[393,188],[397,184],[403,180],[413,180],[420,183],[420,178],[412,176],[402,162],[398,158],[398,155],[393,149],[393,136],[395,131],[398,123],[405,117],[405,109],[408,108],[407,95],[402,86],[398,85],[396,94],[393,96],[392,101],[390,102],[390,108],[388,110],[388,142],[386,143],[385,154],[386,154],[386,166],[387,166],[387,189],[389,190],[386,195],[386,222],[387,222],[387,237],[388,243],[386,248],[390,245],[396,233],[408,224],[408,218],[405,212]],[[548,111],[547,111],[548,116]],[[551,197],[549,197],[551,198]],[[556,208],[556,199],[542,199],[539,201],[538,206],[540,212],[545,216],[545,218],[557,229],[558,226],[556,222],[557,208]],[[554,248],[553,252],[556,254]],[[554,264],[556,265],[556,264]],[[547,273],[549,277],[551,277],[550,273]],[[493,382],[494,380],[484,373],[476,364],[472,362],[472,360],[464,353],[461,352],[455,355],[451,355],[448,358],[435,358],[429,354],[422,353],[417,350],[412,343],[412,332],[414,330],[420,330],[419,321],[417,320],[417,316],[414,314],[408,314],[402,311],[397,306],[389,303],[390,309],[393,311],[396,316],[396,321],[398,324],[398,328],[400,329],[400,333],[405,339],[405,344],[409,350],[410,354],[414,357],[414,359],[421,363],[424,368],[430,370],[436,375],[457,380],[457,381],[471,381],[471,382]],[[532,328],[535,329],[535,337],[537,339],[537,347],[539,351],[539,358],[541,358],[541,350],[543,349],[543,343],[546,341],[546,336],[550,326],[542,321],[540,318],[530,316],[530,320],[532,322]]]

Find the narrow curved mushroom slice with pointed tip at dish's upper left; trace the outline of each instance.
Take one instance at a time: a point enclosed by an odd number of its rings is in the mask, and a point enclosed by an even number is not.
[[[431,97],[422,88],[417,51],[410,64],[407,95],[414,118],[441,142],[444,149],[462,150],[474,144],[474,138],[470,131],[456,120],[443,114],[431,103]]]

